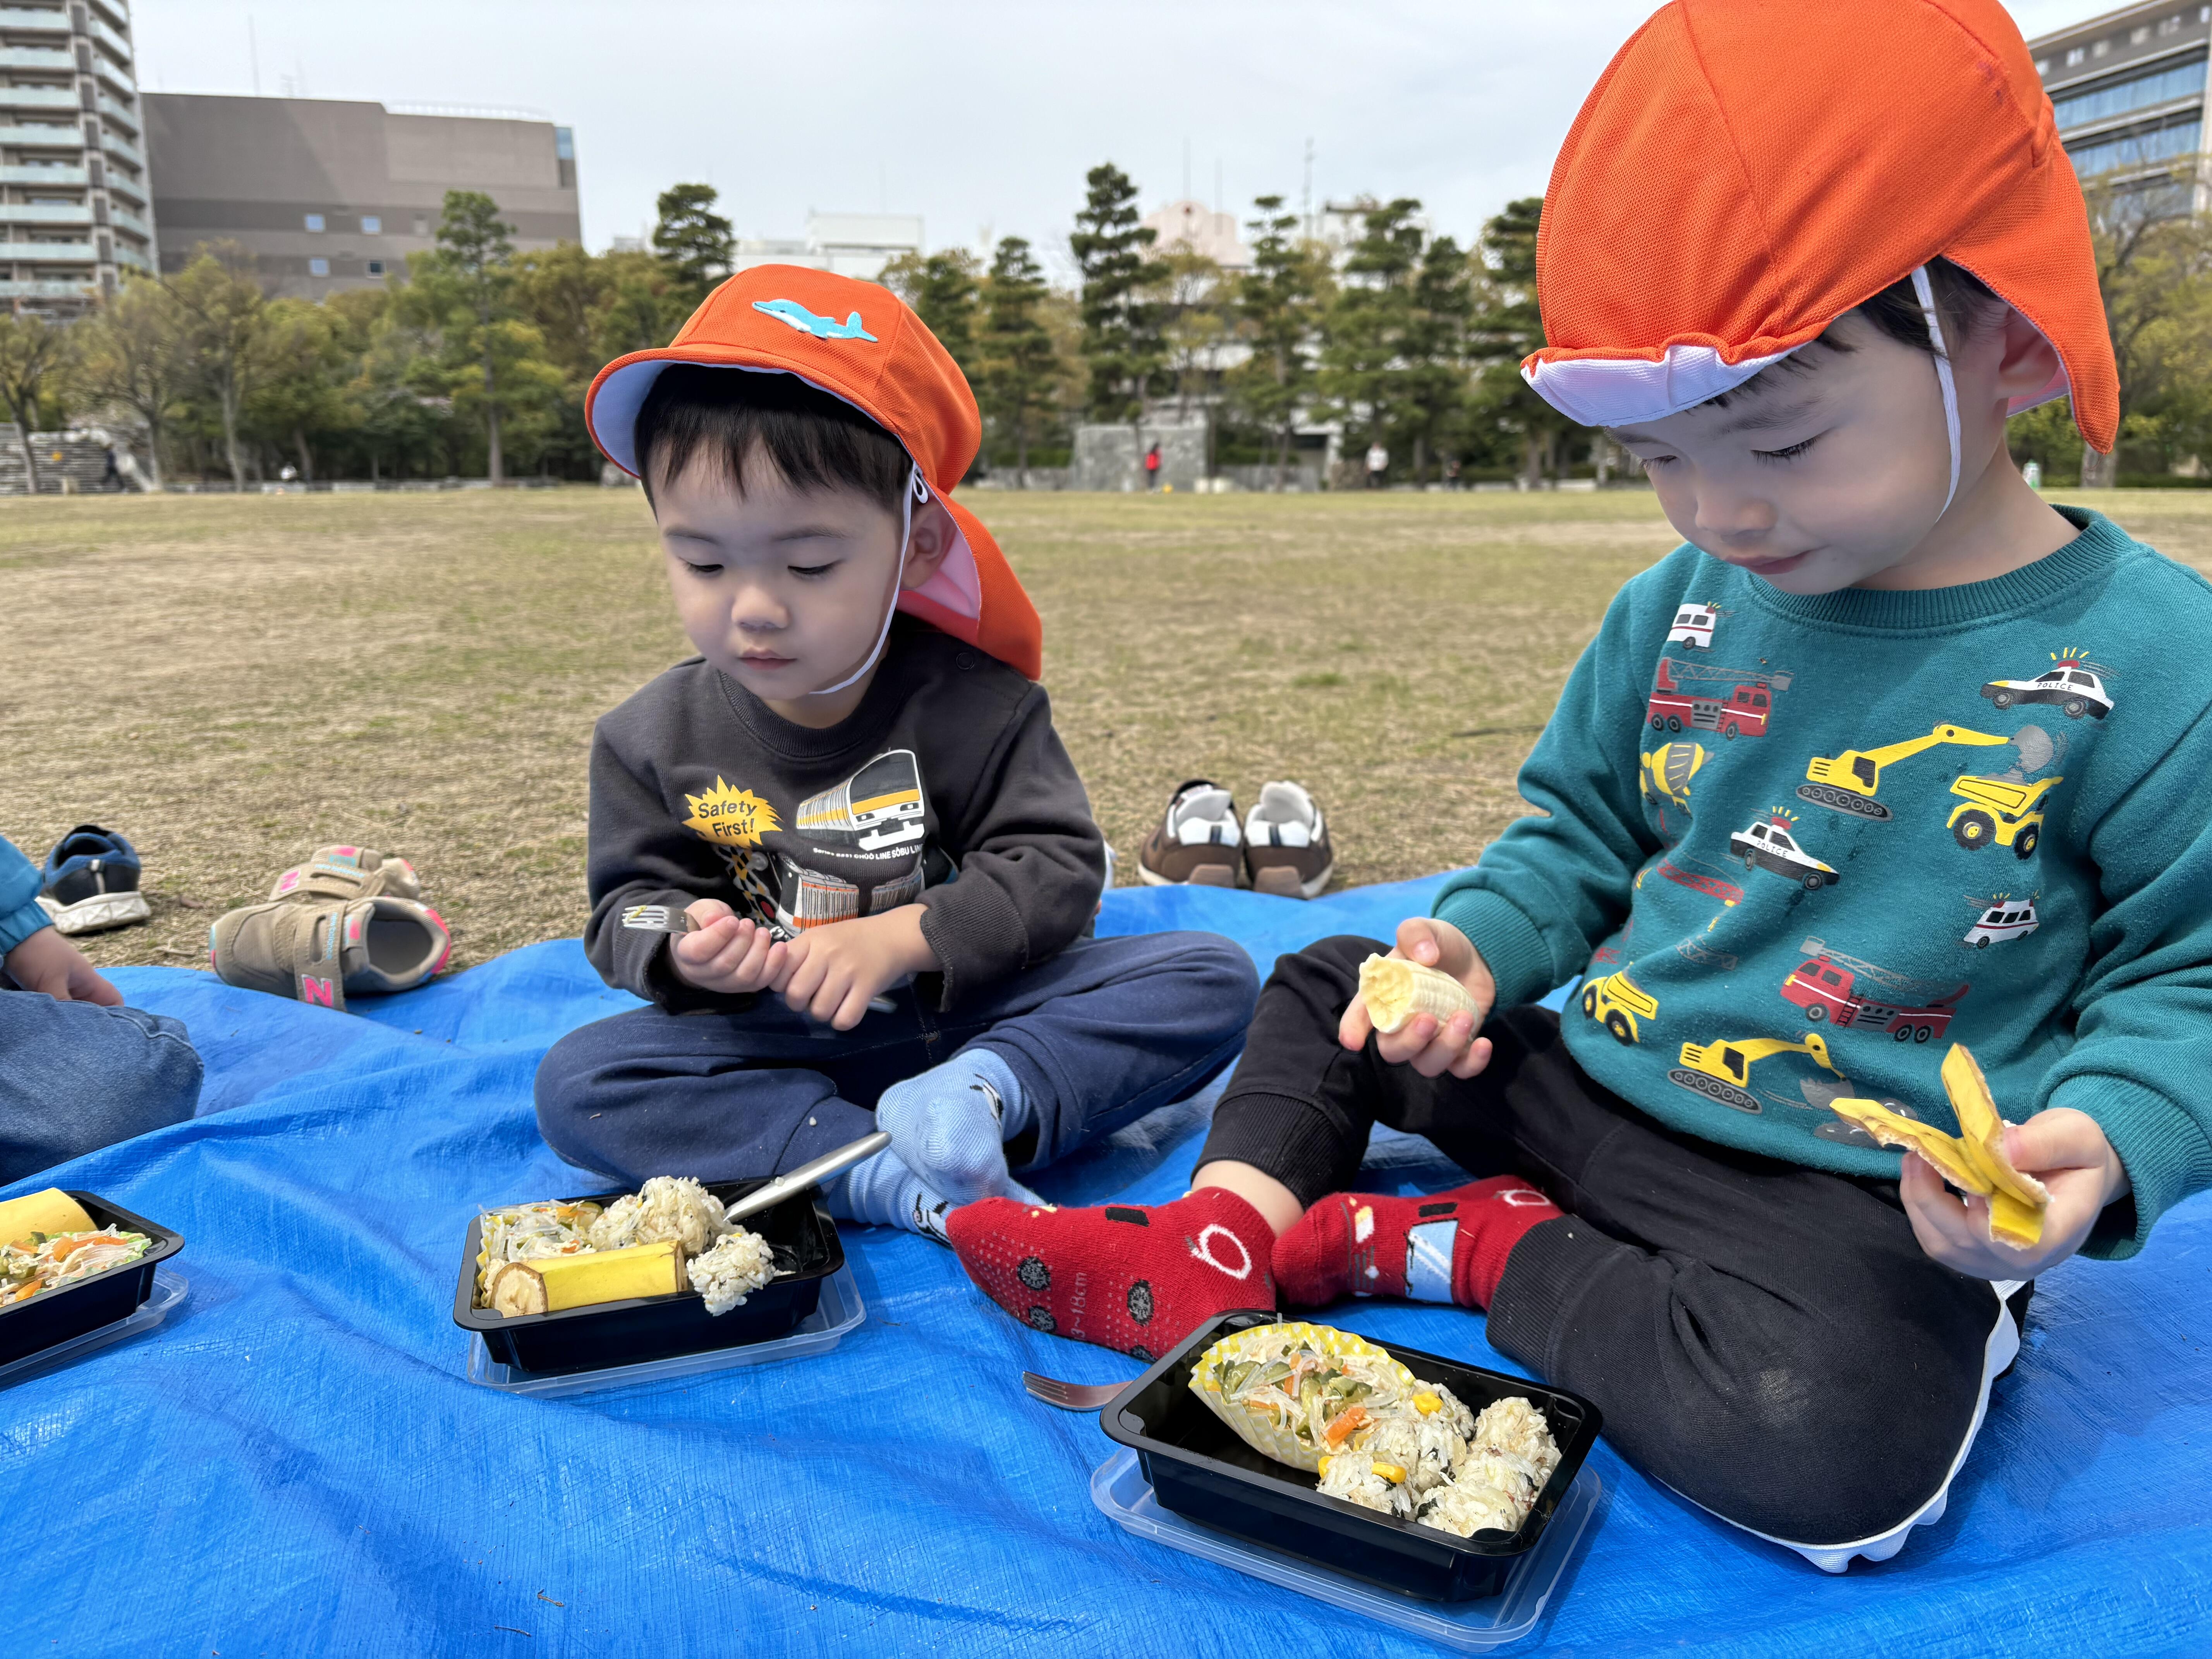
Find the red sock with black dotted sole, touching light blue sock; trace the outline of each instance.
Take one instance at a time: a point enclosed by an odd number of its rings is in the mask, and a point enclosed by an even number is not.
[[[1139,1360],[1230,1307],[1274,1307],[1274,1230],[1219,1188],[1097,1210],[982,1199],[945,1232],[969,1279],[1024,1325]]]

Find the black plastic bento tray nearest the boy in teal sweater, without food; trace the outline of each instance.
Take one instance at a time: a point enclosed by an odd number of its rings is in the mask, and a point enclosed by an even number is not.
[[[1442,1383],[1460,1396],[1469,1411],[1480,1413],[1493,1400],[1520,1394],[1544,1413],[1559,1447],[1559,1467],[1551,1471],[1517,1533],[1453,1537],[1340,1498],[1323,1498],[1316,1491],[1318,1475],[1252,1451],[1190,1391],[1192,1363],[1219,1338],[1252,1325],[1285,1323],[1294,1321],[1283,1314],[1234,1312],[1201,1325],[1108,1400],[1099,1411],[1099,1427],[1137,1453],[1161,1509],[1172,1509],[1183,1520],[1422,1601],[1498,1595],[1513,1564],[1544,1537],[1582,1460],[1597,1444],[1604,1425],[1597,1407],[1566,1389],[1369,1336],[1369,1343],[1387,1347],[1422,1383]]]

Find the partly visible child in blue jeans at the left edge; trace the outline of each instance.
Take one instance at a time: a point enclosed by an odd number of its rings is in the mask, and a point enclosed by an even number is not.
[[[55,931],[38,885],[38,865],[0,838],[0,1186],[199,1106],[192,1037],[126,1009]]]

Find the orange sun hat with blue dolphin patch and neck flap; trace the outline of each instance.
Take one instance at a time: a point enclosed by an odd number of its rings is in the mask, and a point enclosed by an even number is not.
[[[599,451],[637,476],[637,411],[670,363],[796,374],[849,403],[905,445],[960,538],[898,608],[1009,668],[1044,672],[1044,624],[991,531],[951,498],[982,442],[982,416],[960,365],[889,288],[803,265],[741,270],[701,301],[675,341],[617,356],[584,394]]]

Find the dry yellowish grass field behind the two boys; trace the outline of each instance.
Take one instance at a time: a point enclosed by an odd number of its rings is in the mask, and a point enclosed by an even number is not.
[[[1135,878],[1168,792],[1292,776],[1338,885],[1467,863],[1606,599],[1668,551],[1648,493],[973,495],[1044,613],[1055,719]],[[2212,568],[2212,498],[2115,493]],[[310,847],[414,858],[456,964],[584,920],[593,719],[688,653],[635,491],[0,504],[0,832],[146,858],[95,962],[197,964]]]

